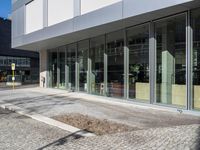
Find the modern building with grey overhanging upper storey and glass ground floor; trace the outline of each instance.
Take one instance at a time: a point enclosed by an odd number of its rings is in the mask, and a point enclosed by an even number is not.
[[[26,2],[13,46],[40,51],[41,86],[200,110],[200,1]]]

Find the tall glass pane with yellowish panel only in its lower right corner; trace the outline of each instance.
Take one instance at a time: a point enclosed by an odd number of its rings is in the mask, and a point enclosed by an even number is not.
[[[149,100],[149,25],[127,30],[129,98]]]

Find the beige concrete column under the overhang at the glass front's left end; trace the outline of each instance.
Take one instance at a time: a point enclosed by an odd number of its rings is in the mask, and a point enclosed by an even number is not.
[[[40,52],[40,87],[47,88],[48,81],[48,53],[47,50]],[[45,82],[44,82],[45,80]]]

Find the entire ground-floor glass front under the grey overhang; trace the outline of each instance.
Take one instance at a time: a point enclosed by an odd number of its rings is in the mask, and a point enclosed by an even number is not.
[[[200,110],[199,12],[49,50],[49,87]]]

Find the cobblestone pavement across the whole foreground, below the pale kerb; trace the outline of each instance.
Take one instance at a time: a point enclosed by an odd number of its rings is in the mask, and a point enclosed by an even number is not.
[[[0,150],[199,150],[200,125],[80,138],[0,108]]]

